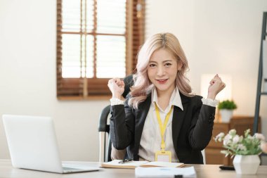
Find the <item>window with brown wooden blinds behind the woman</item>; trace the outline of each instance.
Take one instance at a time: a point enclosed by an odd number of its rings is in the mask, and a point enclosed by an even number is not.
[[[144,7],[143,0],[57,0],[58,98],[106,98],[111,75],[133,72]]]

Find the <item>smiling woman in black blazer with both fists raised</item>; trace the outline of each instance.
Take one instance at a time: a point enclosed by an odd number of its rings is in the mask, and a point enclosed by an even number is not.
[[[110,138],[133,160],[203,163],[211,139],[216,95],[225,84],[216,75],[207,98],[191,94],[188,61],[174,34],[150,37],[138,53],[136,76],[126,101],[124,82],[109,80],[112,92]]]

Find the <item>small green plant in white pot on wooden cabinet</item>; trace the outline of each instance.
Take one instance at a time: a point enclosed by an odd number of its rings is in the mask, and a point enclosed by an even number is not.
[[[233,116],[233,110],[237,108],[234,101],[226,100],[219,103],[218,109],[221,113],[221,122],[229,122]]]

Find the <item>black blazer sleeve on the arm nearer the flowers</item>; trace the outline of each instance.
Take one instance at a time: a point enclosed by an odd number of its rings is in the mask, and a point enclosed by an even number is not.
[[[203,150],[211,140],[216,110],[215,107],[202,104],[201,98],[196,96],[196,101],[193,101],[196,104],[188,133],[190,146],[197,150]]]

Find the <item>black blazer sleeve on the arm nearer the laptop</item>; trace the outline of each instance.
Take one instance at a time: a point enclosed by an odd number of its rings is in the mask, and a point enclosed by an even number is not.
[[[134,110],[128,105],[129,98],[124,105],[110,106],[110,139],[118,150],[129,146],[133,141],[135,116]]]

